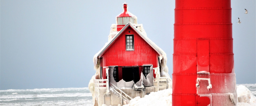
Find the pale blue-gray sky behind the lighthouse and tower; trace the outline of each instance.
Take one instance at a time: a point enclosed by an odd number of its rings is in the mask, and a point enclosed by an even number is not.
[[[108,41],[123,2],[1,0],[0,89],[88,87],[93,56]],[[148,38],[166,52],[172,75],[174,0],[126,2]],[[237,84],[256,83],[255,5],[231,1]]]

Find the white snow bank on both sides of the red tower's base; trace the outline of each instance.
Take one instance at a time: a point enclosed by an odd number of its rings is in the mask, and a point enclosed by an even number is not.
[[[256,97],[250,93],[251,91],[248,88],[244,85],[239,85],[237,89],[237,95],[245,96],[250,94],[251,99],[248,103],[238,101],[236,106],[256,106]],[[145,95],[144,98],[135,97],[130,100],[129,104],[124,106],[172,106],[172,89],[151,92],[149,95]]]

